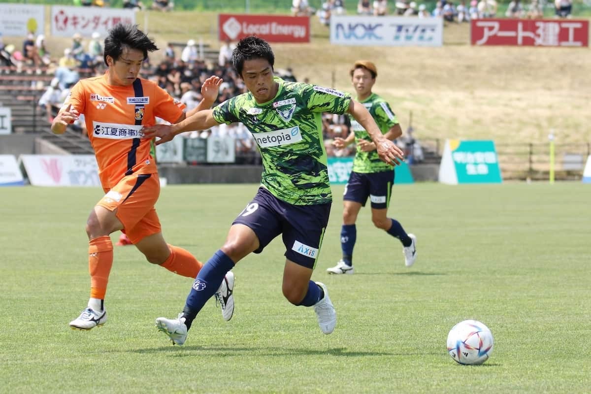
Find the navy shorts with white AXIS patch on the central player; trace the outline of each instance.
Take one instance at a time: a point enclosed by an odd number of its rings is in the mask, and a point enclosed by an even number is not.
[[[275,237],[283,234],[285,257],[314,269],[331,205],[288,204],[261,187],[232,224],[244,224],[255,232],[259,240],[255,253],[261,253]]]

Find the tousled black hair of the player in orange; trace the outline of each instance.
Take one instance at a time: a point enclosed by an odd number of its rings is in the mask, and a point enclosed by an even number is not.
[[[113,60],[119,60],[125,47],[142,51],[144,60],[148,58],[148,51],[158,50],[154,41],[139,30],[138,25],[118,23],[109,30],[109,34],[105,38],[105,54],[103,56],[105,64],[107,64],[107,56],[111,56]]]

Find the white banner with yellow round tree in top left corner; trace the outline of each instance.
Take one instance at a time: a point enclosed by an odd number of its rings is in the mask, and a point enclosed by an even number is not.
[[[0,4],[0,33],[5,37],[27,37],[44,34],[45,6],[28,4]]]

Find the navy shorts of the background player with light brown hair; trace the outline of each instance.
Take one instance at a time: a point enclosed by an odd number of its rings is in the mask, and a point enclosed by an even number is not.
[[[343,200],[356,201],[365,207],[368,200],[374,209],[385,209],[390,204],[394,170],[361,174],[351,171],[349,181],[345,185]]]

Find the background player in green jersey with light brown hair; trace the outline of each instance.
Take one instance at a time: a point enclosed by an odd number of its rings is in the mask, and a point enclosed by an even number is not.
[[[369,110],[379,129],[387,139],[402,135],[398,119],[382,97],[372,92],[378,69],[368,60],[358,60],[350,71],[351,81],[357,92],[357,100]],[[347,138],[335,138],[335,146],[343,148],[353,141],[357,152],[353,160],[353,170],[345,186],[343,196],[343,226],[340,232],[340,245],[343,258],[336,266],[328,268],[328,273],[353,273],[353,247],[357,238],[355,222],[362,206],[369,197],[371,219],[378,229],[400,239],[402,253],[407,267],[417,258],[416,237],[407,234],[398,220],[387,217],[390,203],[394,169],[379,159],[376,146],[363,125],[351,119],[351,133]]]

